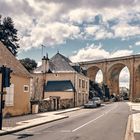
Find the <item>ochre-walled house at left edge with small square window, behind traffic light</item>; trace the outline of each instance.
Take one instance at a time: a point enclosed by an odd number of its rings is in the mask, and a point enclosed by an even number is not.
[[[4,89],[4,116],[17,116],[30,112],[31,75],[24,66],[0,42],[0,67],[4,65],[12,70],[10,87]],[[0,86],[2,83],[0,73]]]

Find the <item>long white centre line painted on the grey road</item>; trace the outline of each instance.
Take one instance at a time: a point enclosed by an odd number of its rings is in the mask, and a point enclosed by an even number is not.
[[[109,111],[106,111],[105,113],[103,113],[102,115],[98,116],[97,118],[95,118],[95,119],[93,119],[93,120],[91,120],[91,121],[89,121],[89,122],[87,122],[87,123],[85,123],[85,124],[83,124],[83,125],[81,125],[81,126],[75,128],[75,129],[73,129],[72,132],[75,132],[75,131],[81,129],[82,127],[84,127],[84,126],[86,126],[86,125],[88,125],[88,124],[90,124],[90,123],[92,123],[92,122],[98,120],[99,118],[101,118],[101,117],[103,117],[104,115],[108,114],[110,111],[114,110],[117,106],[118,106],[118,105],[116,105],[114,108],[110,109]]]

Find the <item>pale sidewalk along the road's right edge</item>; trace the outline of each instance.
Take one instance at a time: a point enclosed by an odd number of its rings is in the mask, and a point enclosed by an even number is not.
[[[131,138],[128,140],[140,140],[140,103],[128,102],[131,110],[129,117]]]

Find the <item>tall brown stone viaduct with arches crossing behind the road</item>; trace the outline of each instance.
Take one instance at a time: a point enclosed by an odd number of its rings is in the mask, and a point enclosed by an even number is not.
[[[140,98],[140,55],[85,61],[79,64],[86,67],[90,80],[95,80],[97,72],[101,70],[103,82],[109,87],[110,94],[119,94],[119,74],[127,67],[130,73],[130,100]]]

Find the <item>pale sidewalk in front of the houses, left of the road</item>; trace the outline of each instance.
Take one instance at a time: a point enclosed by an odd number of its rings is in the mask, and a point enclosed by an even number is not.
[[[45,113],[38,113],[38,114],[32,114],[32,115],[25,115],[25,116],[19,116],[19,117],[12,117],[8,120],[3,120],[3,128],[0,130],[0,136],[18,132],[27,128],[31,128],[34,126],[38,126],[41,124],[61,120],[68,118],[68,116],[63,115],[63,113],[76,111],[81,109],[82,107],[77,108],[70,108],[65,110],[58,110],[58,111],[51,111],[51,112],[45,112]],[[10,124],[10,127],[6,122],[12,122]]]

